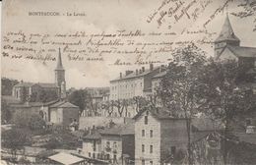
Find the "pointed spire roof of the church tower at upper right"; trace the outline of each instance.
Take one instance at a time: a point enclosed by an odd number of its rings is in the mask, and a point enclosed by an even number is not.
[[[240,41],[240,39],[235,36],[233,32],[233,28],[231,27],[228,15],[226,14],[226,18],[224,21],[224,26],[218,38],[215,40],[216,42],[231,40],[231,41]]]

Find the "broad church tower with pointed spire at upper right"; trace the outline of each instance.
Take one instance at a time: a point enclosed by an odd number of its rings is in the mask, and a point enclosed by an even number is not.
[[[240,39],[235,36],[233,28],[231,27],[228,14],[224,21],[224,26],[218,38],[215,40],[215,57],[219,57],[224,47],[227,45],[240,46]]]

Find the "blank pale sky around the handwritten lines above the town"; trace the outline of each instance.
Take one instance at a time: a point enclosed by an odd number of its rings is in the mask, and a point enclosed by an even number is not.
[[[206,2],[207,0],[195,0],[197,2]],[[159,27],[156,20],[147,23],[148,17],[153,14],[166,0],[6,0],[3,4],[2,13],[2,36],[8,31],[41,32],[56,33],[86,31],[89,33],[100,31],[116,31],[118,29],[142,31],[174,31],[178,34],[166,37],[145,37],[143,40],[186,40],[189,37],[200,38],[203,35],[180,34],[180,30],[186,27],[189,30],[196,30],[202,27],[207,19],[224,4],[224,0],[208,0],[209,6],[203,11],[196,21],[191,19],[182,19],[177,24],[168,22],[162,23]],[[193,2],[187,0],[186,3]],[[205,28],[209,32],[215,33],[212,38],[216,38],[224,24],[226,12],[232,13],[239,11],[237,7],[239,0],[233,0],[228,4],[225,12],[219,13],[211,23]],[[169,9],[173,4],[167,4],[164,8]],[[60,13],[85,13],[84,17],[32,17],[29,12],[49,11]],[[254,17],[255,18],[255,17]],[[252,31],[252,17],[240,19],[229,15],[233,30],[241,40],[241,45],[256,47],[256,32]],[[167,23],[168,22],[168,23]],[[171,29],[168,26],[172,26]],[[3,42],[4,43],[4,42]],[[199,45],[207,52],[208,56],[213,55],[213,45]],[[61,47],[62,49],[63,47]],[[57,53],[54,54],[57,56]],[[167,58],[166,55],[158,58]],[[84,88],[88,86],[107,86],[109,81],[119,76],[120,72],[127,69],[135,70],[142,66],[111,66],[117,57],[112,54],[101,63],[74,62],[69,61],[65,54],[62,55],[63,65],[66,70],[67,87]],[[135,57],[124,57],[135,58]],[[42,63],[32,60],[14,60],[2,57],[1,74],[2,77],[17,79],[19,81],[32,83],[53,83],[56,62]],[[148,65],[145,66],[148,68]]]

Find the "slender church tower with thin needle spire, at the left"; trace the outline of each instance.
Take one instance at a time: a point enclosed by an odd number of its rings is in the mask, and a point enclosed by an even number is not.
[[[60,92],[59,92],[60,98],[65,98],[66,96],[65,70],[62,65],[60,48],[59,48],[57,67],[55,69],[55,83],[60,89]]]

